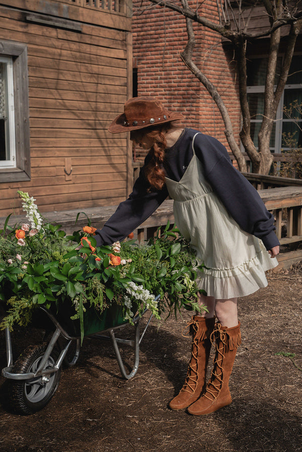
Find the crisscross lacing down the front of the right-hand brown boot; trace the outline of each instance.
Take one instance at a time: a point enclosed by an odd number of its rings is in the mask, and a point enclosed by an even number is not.
[[[213,359],[213,370],[211,372],[211,377],[210,380],[208,382],[208,387],[206,389],[206,392],[204,393],[204,397],[206,397],[207,399],[211,400],[210,397],[207,396],[207,393],[213,398],[213,402],[215,402],[215,400],[217,399],[221,388],[222,388],[222,381],[223,381],[223,367],[222,365],[220,365],[218,363],[218,355],[221,356],[221,364],[223,363],[223,358],[224,358],[224,354],[223,354],[223,348],[226,345],[226,333],[225,331],[223,331],[221,329],[221,324],[220,323],[216,323],[214,330],[212,331],[211,335],[210,335],[210,340],[212,345],[215,345],[215,357]],[[219,345],[222,343],[222,346],[220,346],[220,348],[218,347],[217,344],[217,340],[215,339],[219,339]],[[217,369],[219,369],[220,373],[217,374]],[[217,379],[218,382],[215,384],[213,382],[214,379]],[[212,386],[212,388],[210,388],[210,386]]]

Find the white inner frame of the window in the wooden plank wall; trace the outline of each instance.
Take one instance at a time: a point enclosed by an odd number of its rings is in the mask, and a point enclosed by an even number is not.
[[[16,168],[16,128],[15,128],[15,102],[14,102],[14,73],[13,58],[0,56],[0,63],[4,66],[4,82],[6,85],[6,121],[5,136],[6,152],[9,158],[0,160],[0,169]]]

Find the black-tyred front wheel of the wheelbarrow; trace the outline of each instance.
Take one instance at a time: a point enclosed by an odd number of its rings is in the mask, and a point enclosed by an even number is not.
[[[17,359],[12,372],[27,374],[35,372],[45,354],[47,343],[27,347]],[[58,351],[53,349],[44,369],[52,368],[58,357]],[[44,408],[55,393],[61,377],[61,369],[53,374],[40,377],[38,380],[11,380],[9,394],[11,408],[19,414],[32,414]]]

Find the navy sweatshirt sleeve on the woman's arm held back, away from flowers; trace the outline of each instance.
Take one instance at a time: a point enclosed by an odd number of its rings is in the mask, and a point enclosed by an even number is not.
[[[239,226],[260,238],[267,250],[279,245],[273,215],[257,190],[233,166],[225,147],[215,138],[198,134],[194,149],[208,182]]]

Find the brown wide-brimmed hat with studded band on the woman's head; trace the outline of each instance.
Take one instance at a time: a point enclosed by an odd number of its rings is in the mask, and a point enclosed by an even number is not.
[[[108,130],[111,133],[128,132],[178,119],[184,119],[184,116],[181,113],[166,110],[159,99],[140,96],[129,99],[125,103],[124,113],[112,121]]]

